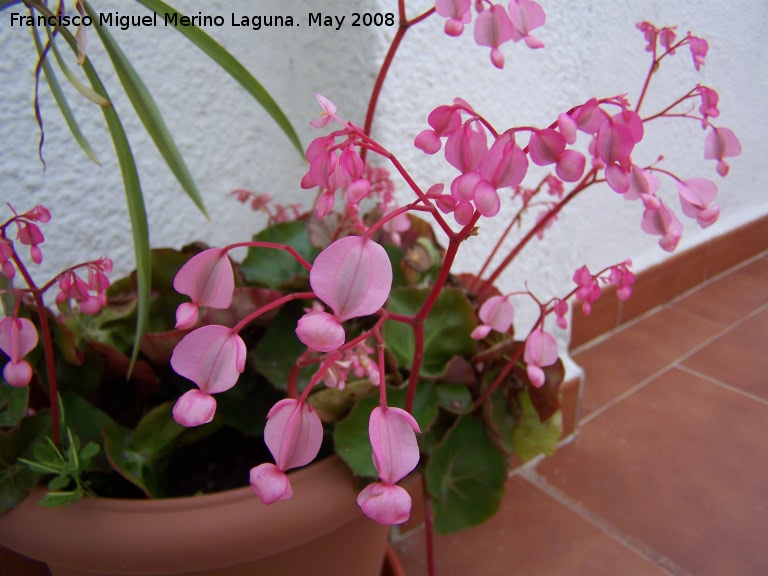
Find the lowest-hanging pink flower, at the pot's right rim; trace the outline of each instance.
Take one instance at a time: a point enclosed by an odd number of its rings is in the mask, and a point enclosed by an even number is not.
[[[420,432],[419,425],[405,410],[379,406],[371,412],[368,436],[381,482],[368,485],[357,503],[380,524],[402,524],[410,516],[411,497],[395,484],[419,463],[415,432]]]

